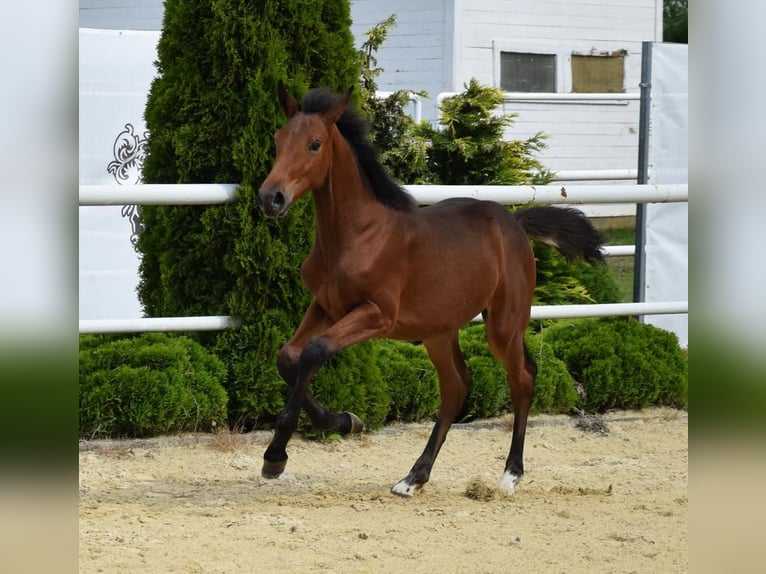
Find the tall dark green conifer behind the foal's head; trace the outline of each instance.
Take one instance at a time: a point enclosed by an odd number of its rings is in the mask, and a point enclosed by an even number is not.
[[[310,300],[299,269],[313,240],[311,202],[278,222],[258,207],[273,134],[285,122],[277,83],[296,94],[356,84],[350,25],[348,0],[165,3],[143,179],[241,187],[231,205],[144,207],[139,297],[149,316],[242,318],[240,330],[201,336],[229,366],[230,420],[240,428],[267,422],[284,404],[277,353]],[[339,361],[354,364],[355,353]]]

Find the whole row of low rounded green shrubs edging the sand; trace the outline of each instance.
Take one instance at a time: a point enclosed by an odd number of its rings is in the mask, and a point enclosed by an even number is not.
[[[464,328],[460,342],[473,385],[458,420],[508,412],[505,370],[488,349],[484,326]],[[538,366],[532,413],[688,404],[687,356],[662,329],[632,318],[560,321],[530,330],[526,344]],[[242,428],[227,420],[226,374],[220,359],[188,337],[81,337],[80,436],[151,436],[225,423]],[[287,387],[276,376],[272,381],[250,400],[275,416]],[[429,420],[439,407],[424,346],[403,341],[370,341],[353,354],[347,349],[320,369],[311,389],[328,408],[356,412],[371,430],[394,420]],[[301,430],[311,430],[305,417]]]

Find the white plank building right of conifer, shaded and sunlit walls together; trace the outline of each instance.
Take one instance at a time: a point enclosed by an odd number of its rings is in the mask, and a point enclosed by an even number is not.
[[[379,87],[427,91],[423,115],[431,121],[439,93],[461,91],[471,78],[500,85],[500,51],[557,54],[558,91],[568,93],[572,53],[624,50],[625,91],[638,93],[641,43],[662,34],[661,0],[355,0],[357,45],[391,14],[397,25],[378,53]],[[636,100],[509,101],[503,111],[518,114],[508,139],[548,134],[540,159],[549,169],[636,168]]]

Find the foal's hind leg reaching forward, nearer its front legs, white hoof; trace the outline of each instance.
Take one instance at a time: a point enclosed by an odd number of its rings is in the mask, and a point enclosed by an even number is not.
[[[423,453],[409,474],[391,489],[393,494],[406,497],[412,496],[431,477],[431,469],[439,450],[471,387],[471,376],[458,344],[458,331],[423,341],[423,344],[439,375],[441,404]]]

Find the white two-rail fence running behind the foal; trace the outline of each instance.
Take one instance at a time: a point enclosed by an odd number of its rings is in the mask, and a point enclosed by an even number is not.
[[[80,205],[206,205],[236,201],[236,184],[81,185]],[[407,190],[420,204],[449,197],[473,197],[503,203],[585,205],[593,203],[665,203],[688,201],[688,185],[541,185],[541,186],[424,186]],[[632,245],[610,246],[607,255],[633,255]],[[688,313],[688,301],[544,305],[532,307],[533,319],[604,317],[613,315],[667,315]],[[237,328],[229,316],[152,317],[81,320],[80,333],[132,333],[145,331],[215,331]]]

